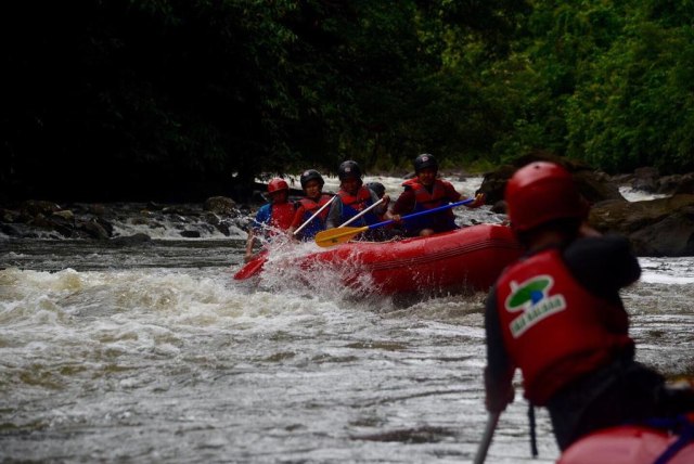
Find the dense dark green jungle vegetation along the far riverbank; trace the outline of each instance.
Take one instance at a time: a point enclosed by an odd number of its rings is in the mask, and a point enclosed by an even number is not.
[[[4,198],[237,196],[260,172],[694,169],[694,1],[9,0]]]

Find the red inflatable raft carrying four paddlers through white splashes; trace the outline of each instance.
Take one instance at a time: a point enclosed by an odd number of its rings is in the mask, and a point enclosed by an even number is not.
[[[487,291],[520,253],[507,227],[477,224],[428,237],[348,242],[298,258],[293,266],[309,272],[337,271],[345,285],[368,284],[382,295]],[[266,258],[248,262],[234,279],[259,274]]]

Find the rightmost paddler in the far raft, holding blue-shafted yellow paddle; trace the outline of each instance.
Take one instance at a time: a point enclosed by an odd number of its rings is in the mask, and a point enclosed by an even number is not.
[[[388,212],[389,219],[399,222],[401,217],[413,212],[421,212],[449,203],[459,202],[462,195],[448,181],[437,179],[438,162],[428,153],[424,153],[414,159],[415,178],[402,183],[404,191],[396,199],[393,209]],[[467,205],[468,208],[478,208],[485,204],[484,194],[475,197]],[[420,216],[402,223],[408,236],[428,236],[435,233],[448,232],[459,229],[455,224],[455,215],[452,209]]]

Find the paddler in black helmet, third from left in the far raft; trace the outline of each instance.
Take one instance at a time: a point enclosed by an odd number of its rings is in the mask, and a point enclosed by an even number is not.
[[[349,219],[359,215],[371,205],[380,199],[383,203],[374,207],[369,212],[361,216],[351,227],[363,227],[375,224],[380,218],[386,212],[390,197],[384,194],[378,198],[375,192],[363,185],[361,180],[361,168],[356,162],[346,160],[337,168],[337,178],[339,179],[338,199],[333,202],[325,221],[325,229],[333,229],[347,222]],[[370,231],[368,231],[370,232]]]

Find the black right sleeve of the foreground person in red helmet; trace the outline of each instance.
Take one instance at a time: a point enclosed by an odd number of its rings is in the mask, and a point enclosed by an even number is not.
[[[589,292],[612,298],[641,276],[629,241],[619,235],[583,237],[564,249],[571,274]]]

